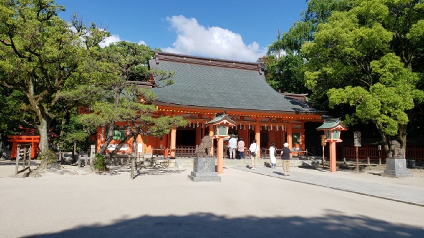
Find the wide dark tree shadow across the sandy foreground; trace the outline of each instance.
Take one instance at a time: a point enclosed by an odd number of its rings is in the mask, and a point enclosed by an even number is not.
[[[422,237],[424,230],[404,224],[393,224],[367,216],[346,216],[327,210],[320,217],[247,216],[228,218],[211,213],[188,216],[140,216],[119,219],[110,225],[93,224],[55,233],[30,235],[49,237]]]

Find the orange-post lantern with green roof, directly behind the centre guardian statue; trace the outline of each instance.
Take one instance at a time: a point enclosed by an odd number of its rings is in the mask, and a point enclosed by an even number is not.
[[[206,122],[205,125],[213,126],[213,137],[218,139],[217,172],[218,174],[222,174],[224,172],[224,138],[229,138],[228,128],[235,126],[236,123],[224,111],[222,113],[215,114],[215,117],[210,122]]]

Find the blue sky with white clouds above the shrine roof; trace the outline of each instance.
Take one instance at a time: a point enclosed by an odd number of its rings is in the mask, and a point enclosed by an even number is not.
[[[112,36],[171,53],[256,61],[307,8],[305,0],[56,0],[70,20],[103,25]]]

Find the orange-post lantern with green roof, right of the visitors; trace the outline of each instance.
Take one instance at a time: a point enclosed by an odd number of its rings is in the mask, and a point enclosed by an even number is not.
[[[316,128],[317,130],[324,131],[326,142],[330,143],[330,172],[336,172],[336,142],[341,142],[340,133],[347,130],[343,126],[339,118],[325,119],[324,123]]]

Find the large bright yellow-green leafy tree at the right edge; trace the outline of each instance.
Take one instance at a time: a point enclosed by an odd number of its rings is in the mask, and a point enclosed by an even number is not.
[[[423,69],[423,3],[339,2],[349,8],[331,11],[301,47],[306,86],[326,95],[331,108],[353,108],[346,115],[348,124],[374,124],[386,151],[392,139],[404,149],[408,115],[424,98],[417,89]]]

